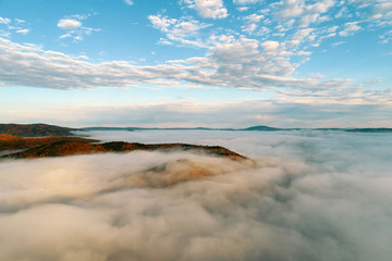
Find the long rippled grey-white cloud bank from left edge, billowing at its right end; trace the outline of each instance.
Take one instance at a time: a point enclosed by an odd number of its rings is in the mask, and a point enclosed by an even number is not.
[[[0,83],[7,86],[84,89],[189,83],[262,90],[268,87],[315,88],[319,85],[317,80],[290,77],[295,67],[287,58],[265,53],[257,40],[247,38],[218,41],[206,57],[155,66],[137,66],[125,61],[95,64],[2,38],[0,49],[3,52],[0,57]],[[24,72],[22,75],[21,70]]]

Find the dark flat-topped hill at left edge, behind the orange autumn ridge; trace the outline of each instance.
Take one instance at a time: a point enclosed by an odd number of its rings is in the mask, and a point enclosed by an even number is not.
[[[17,137],[72,136],[75,128],[60,127],[48,124],[0,124],[0,134]]]

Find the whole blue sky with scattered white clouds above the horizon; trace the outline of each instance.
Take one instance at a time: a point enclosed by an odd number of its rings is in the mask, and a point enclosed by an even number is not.
[[[0,122],[392,127],[391,0],[0,0]]]

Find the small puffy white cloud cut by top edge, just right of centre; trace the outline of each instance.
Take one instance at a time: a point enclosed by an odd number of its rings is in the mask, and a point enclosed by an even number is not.
[[[204,18],[224,18],[228,10],[222,0],[183,0],[188,8],[195,9]]]

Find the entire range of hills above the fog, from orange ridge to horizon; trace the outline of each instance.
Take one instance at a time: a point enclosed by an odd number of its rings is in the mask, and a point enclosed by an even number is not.
[[[139,128],[139,127],[87,127],[69,128],[48,124],[0,124],[0,158],[41,158],[102,152],[125,152],[133,150],[198,150],[209,154],[243,160],[245,157],[219,146],[187,144],[138,144],[99,140],[76,137],[74,130],[232,130],[232,132],[278,132],[306,128],[274,128],[253,126],[248,128]],[[308,128],[314,130],[343,130],[357,133],[391,133],[392,128]],[[73,136],[73,137],[72,137]]]

